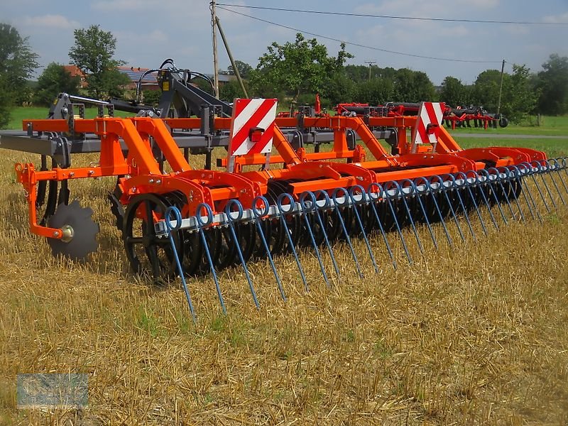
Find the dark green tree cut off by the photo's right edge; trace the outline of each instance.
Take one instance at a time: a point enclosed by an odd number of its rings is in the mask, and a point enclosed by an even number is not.
[[[541,91],[538,111],[542,114],[566,114],[568,112],[568,57],[556,53],[542,64],[537,75],[537,87]]]

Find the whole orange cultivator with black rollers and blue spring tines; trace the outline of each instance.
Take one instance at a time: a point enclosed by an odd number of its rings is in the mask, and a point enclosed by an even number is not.
[[[112,211],[131,269],[155,280],[180,276],[184,285],[184,277],[210,273],[224,310],[216,273],[222,268],[244,269],[258,305],[247,268],[251,259],[270,264],[285,298],[273,260],[293,256],[308,288],[300,246],[315,253],[329,284],[340,274],[334,241],[349,247],[362,276],[361,256],[368,256],[375,272],[385,261],[397,267],[393,238],[410,263],[408,235],[423,253],[419,226],[436,247],[442,244],[433,231],[439,226],[452,246],[457,239],[477,240],[492,226],[542,221],[542,209],[565,204],[565,158],[547,159],[526,148],[461,149],[440,125],[443,108],[422,103],[417,116],[369,117],[368,123],[357,116],[303,116],[306,128],[332,135],[326,152],[290,143],[285,129],[297,129],[297,118],[275,119],[275,99],[236,99],[231,116],[224,117],[80,119],[69,114],[25,120],[23,132],[1,134],[0,146],[42,155],[39,170],[18,163],[16,174],[26,190],[31,231],[45,236],[53,253],[84,258],[97,249],[92,211],[69,202],[68,184],[114,176]],[[195,169],[187,161],[187,147],[210,152],[211,139],[200,138],[203,145],[187,140],[203,135],[204,127],[206,136],[228,141],[228,152],[215,167]],[[371,128],[388,129],[385,141]],[[98,162],[72,167],[72,155],[81,152],[98,152]],[[448,222],[454,222],[457,234]],[[403,232],[405,227],[411,234]],[[353,239],[364,242],[364,253],[357,253]],[[376,258],[373,247],[379,243],[390,258]]]

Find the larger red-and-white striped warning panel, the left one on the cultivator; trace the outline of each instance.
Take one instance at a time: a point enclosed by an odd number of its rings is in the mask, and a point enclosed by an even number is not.
[[[278,99],[235,99],[229,155],[271,152],[277,102]]]

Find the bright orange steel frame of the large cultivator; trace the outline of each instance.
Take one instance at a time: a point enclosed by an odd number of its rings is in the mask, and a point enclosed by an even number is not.
[[[66,120],[24,120],[34,131],[67,132]],[[413,129],[416,117],[371,117],[369,126],[394,127],[398,130],[400,155],[389,154],[378,142],[369,127],[359,117],[327,116],[304,119],[306,127],[331,129],[334,132],[332,150],[321,153],[307,153],[300,148],[295,151],[280,127],[295,127],[296,119],[278,118],[273,146],[278,155],[271,155],[271,164],[282,163],[283,168],[268,168],[242,172],[245,165],[265,165],[264,155],[243,155],[236,158],[236,172],[217,170],[195,170],[187,163],[180,148],[170,134],[170,129],[200,129],[200,119],[131,119],[98,118],[75,120],[75,132],[94,133],[101,139],[99,165],[88,168],[53,168],[35,170],[32,163],[17,163],[18,181],[26,190],[29,206],[31,231],[40,236],[62,238],[62,230],[40,226],[37,221],[35,185],[40,180],[71,180],[79,178],[100,178],[103,176],[125,176],[119,179],[123,195],[121,202],[128,204],[131,197],[143,193],[164,194],[180,191],[187,197],[182,214],[195,214],[197,206],[205,202],[214,211],[222,211],[228,200],[238,198],[244,206],[252,206],[254,197],[267,192],[268,180],[300,180],[290,184],[293,194],[303,191],[333,190],[337,187],[363,185],[373,182],[413,179],[422,176],[444,175],[447,173],[480,170],[485,167],[482,160],[493,162],[496,167],[514,165],[532,160],[545,160],[540,151],[526,148],[473,148],[462,150],[452,136],[440,127],[436,146],[420,146],[417,153],[410,153],[410,142],[406,136]],[[167,126],[166,126],[167,125]],[[168,129],[168,126],[170,129]],[[214,119],[214,129],[228,130],[231,119]],[[366,160],[363,146],[349,150],[345,130],[353,129],[374,160]],[[162,173],[151,150],[153,138],[172,173]],[[128,155],[124,156],[120,140],[126,143]],[[332,161],[350,159],[350,163]]]

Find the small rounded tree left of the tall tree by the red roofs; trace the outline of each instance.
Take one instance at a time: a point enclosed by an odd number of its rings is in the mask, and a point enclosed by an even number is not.
[[[76,94],[81,84],[81,78],[73,77],[63,65],[51,62],[38,78],[33,102],[49,106],[58,94],[65,92]]]

